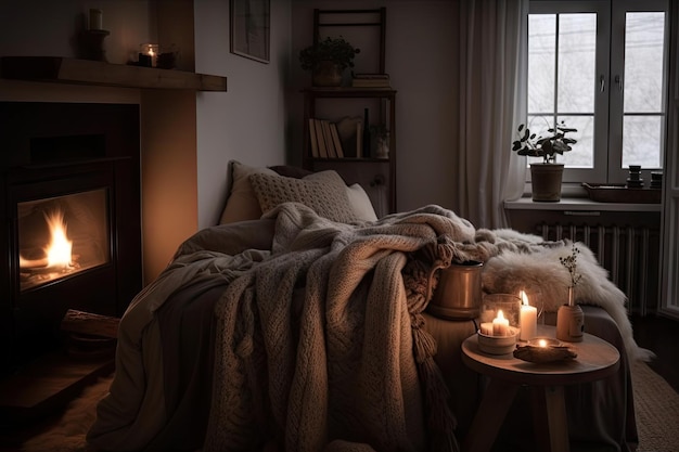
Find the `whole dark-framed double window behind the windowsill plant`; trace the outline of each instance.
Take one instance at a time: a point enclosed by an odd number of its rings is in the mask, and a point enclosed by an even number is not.
[[[650,180],[663,168],[668,24],[667,0],[530,1],[528,125],[578,130],[558,156],[564,182],[625,183],[630,165]]]

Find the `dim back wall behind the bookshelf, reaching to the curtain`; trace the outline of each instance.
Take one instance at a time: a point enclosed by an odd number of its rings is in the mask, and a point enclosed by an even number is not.
[[[439,204],[454,210],[457,133],[457,1],[296,0],[292,3],[291,126],[302,148],[303,100],[310,83],[299,68],[299,50],[312,40],[312,10],[386,7],[386,72],[396,94],[397,209]],[[293,162],[299,162],[302,151]],[[297,158],[297,160],[294,160]]]

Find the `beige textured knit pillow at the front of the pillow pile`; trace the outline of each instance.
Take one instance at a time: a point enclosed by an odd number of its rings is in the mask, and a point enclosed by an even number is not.
[[[350,223],[357,220],[346,184],[335,171],[315,172],[303,179],[253,173],[249,182],[264,212],[283,203],[296,202],[332,221]]]

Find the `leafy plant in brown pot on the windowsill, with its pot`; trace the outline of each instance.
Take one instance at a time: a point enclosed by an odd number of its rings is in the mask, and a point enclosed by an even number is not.
[[[566,133],[577,132],[577,129],[566,127],[561,121],[556,127],[547,130],[547,137],[537,137],[525,125],[518,126],[518,139],[512,143],[512,151],[527,157],[541,157],[541,163],[530,164],[530,181],[533,201],[558,202],[561,199],[561,182],[563,180],[563,164],[556,163],[556,154],[572,151],[572,144],[577,140],[566,137]]]

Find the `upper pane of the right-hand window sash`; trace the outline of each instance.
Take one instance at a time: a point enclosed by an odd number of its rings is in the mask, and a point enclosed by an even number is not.
[[[625,15],[625,113],[663,112],[664,13]]]

